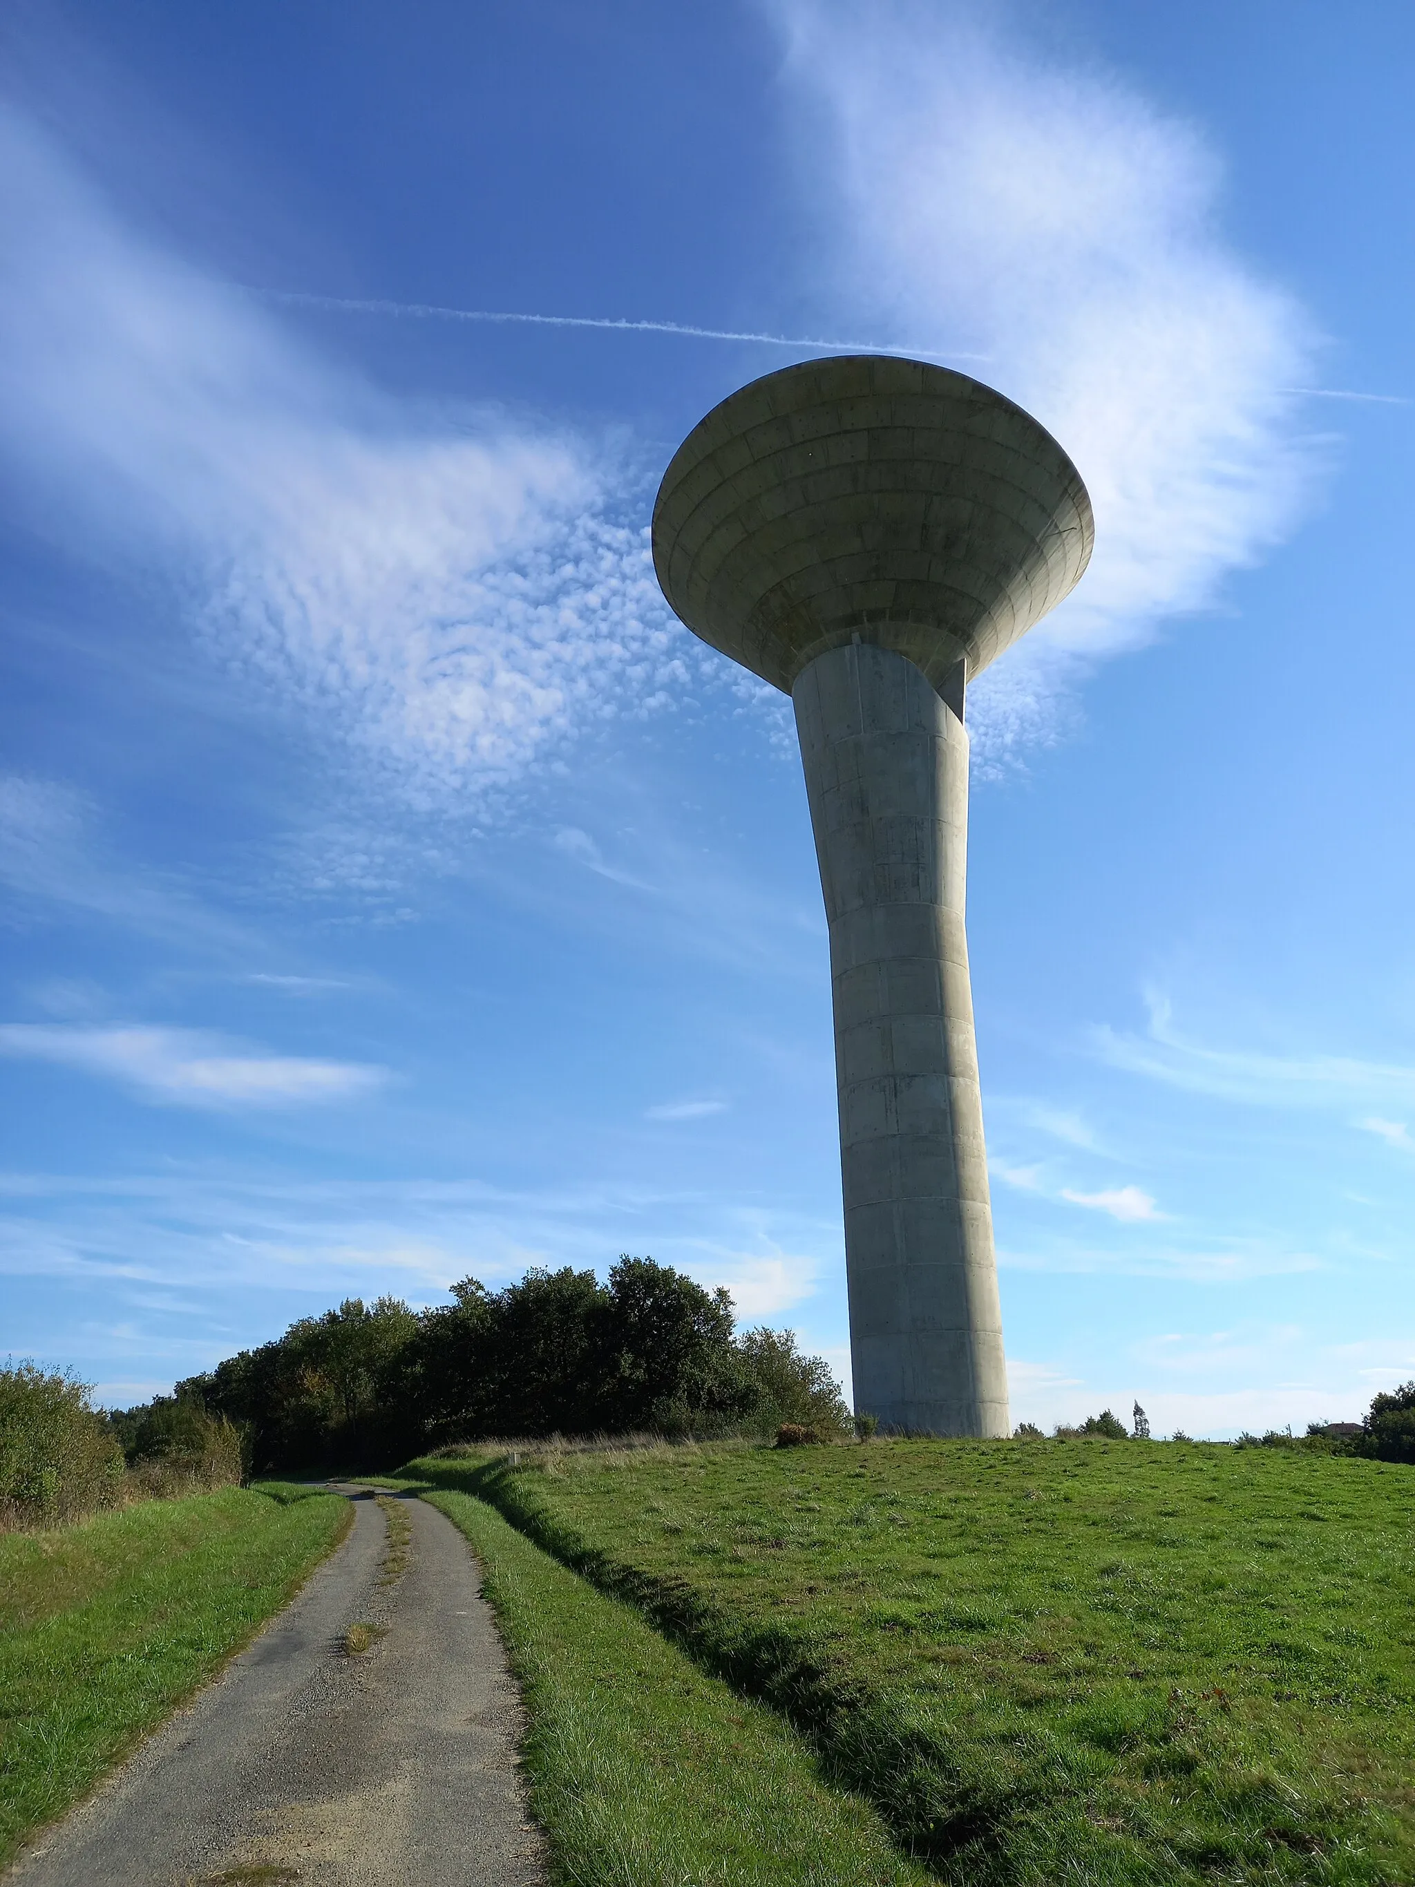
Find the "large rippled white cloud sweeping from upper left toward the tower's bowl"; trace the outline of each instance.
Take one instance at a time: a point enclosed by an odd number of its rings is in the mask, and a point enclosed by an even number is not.
[[[658,596],[645,494],[606,447],[336,372],[125,225],[13,109],[0,238],[0,417],[28,521],[166,568],[238,683],[415,804],[506,787],[711,662]]]

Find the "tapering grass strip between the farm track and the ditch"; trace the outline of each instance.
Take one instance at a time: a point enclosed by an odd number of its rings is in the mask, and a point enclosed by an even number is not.
[[[564,1887],[928,1887],[781,1719],[464,1493],[426,1498],[481,1561],[530,1730],[530,1802]]]

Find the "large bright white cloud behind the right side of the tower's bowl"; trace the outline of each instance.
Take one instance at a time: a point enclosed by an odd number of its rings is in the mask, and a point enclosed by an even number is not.
[[[1204,606],[1290,526],[1307,319],[1217,232],[1202,134],[1121,79],[1047,60],[983,6],[762,6],[809,108],[809,253],[834,260],[836,306],[906,345],[981,351],[964,368],[1036,413],[1090,491],[1085,581],[974,696],[985,753],[1045,736],[1058,672]]]

